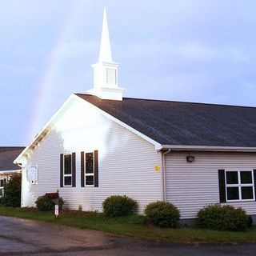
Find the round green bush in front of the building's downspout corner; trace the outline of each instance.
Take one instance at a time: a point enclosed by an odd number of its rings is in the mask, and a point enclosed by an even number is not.
[[[146,206],[145,214],[156,226],[176,227],[178,225],[178,208],[170,202],[151,202]]]

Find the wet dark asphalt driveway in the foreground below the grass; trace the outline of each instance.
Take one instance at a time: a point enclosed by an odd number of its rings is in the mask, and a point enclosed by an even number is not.
[[[256,244],[190,245],[123,238],[45,222],[0,217],[2,255],[256,255]]]

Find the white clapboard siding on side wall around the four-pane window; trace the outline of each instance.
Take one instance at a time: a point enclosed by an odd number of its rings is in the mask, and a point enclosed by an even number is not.
[[[194,162],[186,162],[184,152],[166,155],[166,200],[174,203],[181,218],[196,218],[198,210],[219,203],[218,170],[254,170],[256,154],[205,152],[191,153]],[[256,214],[256,202],[232,202],[248,214]]]

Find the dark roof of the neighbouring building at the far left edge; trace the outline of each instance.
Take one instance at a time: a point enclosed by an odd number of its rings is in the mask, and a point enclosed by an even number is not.
[[[0,171],[20,170],[21,168],[14,165],[14,159],[22,153],[23,146],[0,146]]]

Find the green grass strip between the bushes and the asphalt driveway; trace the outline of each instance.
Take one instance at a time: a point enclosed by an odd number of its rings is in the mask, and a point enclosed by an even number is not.
[[[165,229],[150,225],[145,217],[138,215],[126,218],[106,218],[103,214],[94,212],[62,210],[58,218],[55,218],[53,212],[3,206],[0,206],[0,215],[165,242],[256,242],[255,227],[245,232],[202,230],[184,226],[177,229]]]

